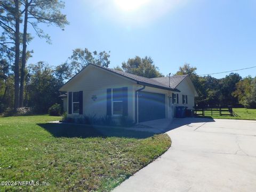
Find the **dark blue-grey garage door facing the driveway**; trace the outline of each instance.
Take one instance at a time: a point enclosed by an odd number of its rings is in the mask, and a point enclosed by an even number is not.
[[[165,118],[165,94],[139,92],[139,122]]]

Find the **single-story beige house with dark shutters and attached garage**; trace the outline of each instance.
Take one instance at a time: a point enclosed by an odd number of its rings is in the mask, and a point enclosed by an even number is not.
[[[176,106],[193,109],[197,97],[188,75],[145,78],[92,64],[59,91],[67,92],[68,117],[127,116],[134,123],[172,119]]]

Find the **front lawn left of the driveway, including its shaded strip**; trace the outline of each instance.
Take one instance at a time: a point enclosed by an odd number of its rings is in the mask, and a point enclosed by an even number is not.
[[[171,140],[114,128],[50,124],[52,116],[0,117],[0,191],[110,191],[163,154]]]

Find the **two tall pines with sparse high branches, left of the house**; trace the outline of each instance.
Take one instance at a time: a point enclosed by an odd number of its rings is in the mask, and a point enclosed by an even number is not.
[[[27,50],[27,45],[33,41],[29,31],[35,31],[39,38],[44,38],[50,43],[50,36],[44,33],[41,26],[55,25],[63,29],[68,24],[66,15],[61,13],[63,7],[64,3],[58,0],[0,2],[0,59],[1,63],[5,63],[2,68],[9,71],[5,66],[7,63],[13,73],[14,109],[23,107],[26,62],[33,52]]]

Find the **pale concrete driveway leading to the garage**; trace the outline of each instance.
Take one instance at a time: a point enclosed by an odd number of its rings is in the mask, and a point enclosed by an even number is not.
[[[256,121],[175,119],[172,146],[114,191],[256,191]]]

